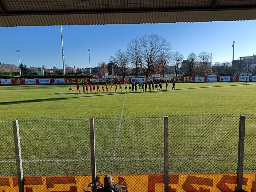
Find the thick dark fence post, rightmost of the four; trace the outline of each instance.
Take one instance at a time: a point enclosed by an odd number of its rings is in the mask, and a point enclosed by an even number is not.
[[[237,189],[242,189],[242,185],[243,185],[244,134],[245,134],[245,115],[240,115],[239,140],[238,140],[238,163],[237,163]]]

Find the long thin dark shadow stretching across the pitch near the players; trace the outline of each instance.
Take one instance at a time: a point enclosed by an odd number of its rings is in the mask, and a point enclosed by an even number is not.
[[[251,84],[251,83],[250,83]],[[255,85],[255,83],[253,83]],[[253,85],[252,84],[252,85]],[[175,89],[177,90],[187,90],[187,89],[204,89],[204,88],[213,88],[213,87],[229,87],[229,86],[244,86],[249,85],[249,83],[242,84],[242,85],[220,85],[220,86],[209,86],[209,87],[191,87],[191,88],[183,88],[183,89]],[[168,91],[171,91],[170,89]],[[62,101],[66,99],[75,99],[75,98],[82,98],[82,97],[101,97],[106,95],[117,95],[117,94],[124,94],[124,93],[159,93],[159,92],[168,92],[168,91],[141,91],[141,92],[113,92],[113,93],[53,93],[54,95],[84,95],[78,97],[62,97],[62,98],[46,98],[46,99],[31,99],[31,100],[24,100],[24,101],[7,101],[7,102],[0,102],[0,105],[12,105],[12,104],[19,104],[19,103],[33,103],[33,102],[43,102],[43,101]],[[98,95],[100,94],[100,95]]]

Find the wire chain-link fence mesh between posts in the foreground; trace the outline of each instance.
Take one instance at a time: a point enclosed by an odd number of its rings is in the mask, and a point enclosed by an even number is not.
[[[168,122],[169,190],[234,190],[239,115],[171,115]],[[247,115],[244,185],[251,191],[255,128],[256,115]],[[96,117],[94,130],[97,188],[108,173],[125,192],[164,191],[163,116]],[[92,182],[88,117],[19,119],[19,133],[26,191],[83,191]],[[15,176],[9,185],[17,189],[11,120],[0,120],[0,137],[0,176]],[[3,178],[0,191],[11,191],[1,188]]]

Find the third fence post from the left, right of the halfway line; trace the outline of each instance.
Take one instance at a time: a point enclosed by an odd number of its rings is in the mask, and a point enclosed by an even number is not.
[[[168,116],[164,116],[164,192],[169,191]]]

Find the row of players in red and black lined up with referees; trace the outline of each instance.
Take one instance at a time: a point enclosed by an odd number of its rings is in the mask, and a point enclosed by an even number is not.
[[[97,86],[97,93],[100,93],[100,84],[97,83],[96,86]],[[115,85],[115,92],[118,92],[117,91],[118,86],[119,86],[119,92],[122,92],[123,85],[121,83],[119,85],[116,83],[116,85]],[[151,87],[152,87],[152,91],[154,90],[154,82],[152,82],[151,84],[150,84],[150,82],[145,83],[145,84],[144,83],[132,83],[132,84],[131,83],[129,83],[129,84],[125,83],[124,84],[125,92],[128,91],[128,87],[129,87],[129,92],[136,92],[137,91],[137,86],[139,87],[139,91],[140,92],[144,91],[144,87],[145,87],[145,92],[151,91]],[[163,85],[160,82],[159,83],[159,91],[160,90],[163,91],[162,88],[163,88]],[[93,85],[92,84],[88,85],[88,83],[86,83],[86,85],[83,84],[82,85],[82,89],[83,89],[83,93],[89,93],[88,92],[89,90],[90,90],[90,93],[96,93],[95,85],[94,84]],[[165,91],[167,91],[167,89],[168,89],[168,83],[165,84]],[[174,82],[172,83],[171,91],[172,90],[175,91],[175,83]],[[70,91],[72,91],[74,93],[72,87],[69,87],[68,93]],[[158,84],[157,83],[155,84],[155,91],[158,91]],[[101,86],[101,92],[104,93],[104,86]],[[108,83],[105,84],[105,92],[108,93]],[[113,83],[110,84],[110,92],[111,93],[113,92]],[[77,93],[80,93],[80,85],[79,84],[77,84]]]

